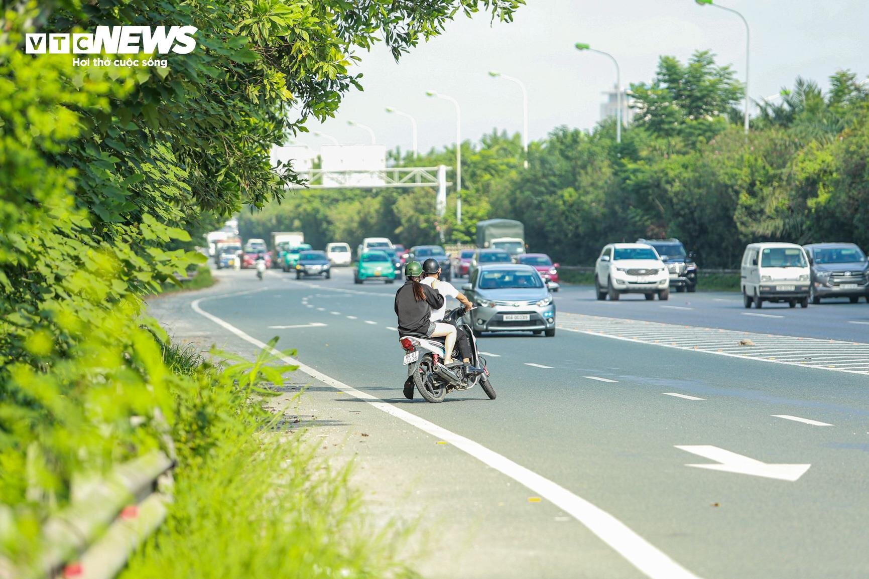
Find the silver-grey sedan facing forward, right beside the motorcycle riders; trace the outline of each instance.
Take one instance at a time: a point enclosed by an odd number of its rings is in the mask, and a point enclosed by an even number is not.
[[[481,332],[555,335],[553,297],[533,266],[506,263],[480,266],[461,290],[477,306],[471,311],[475,335]]]

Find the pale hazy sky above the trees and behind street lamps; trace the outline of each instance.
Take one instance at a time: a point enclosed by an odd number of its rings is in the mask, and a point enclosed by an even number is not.
[[[739,10],[751,27],[749,95],[776,95],[793,86],[797,76],[826,89],[837,69],[869,75],[869,2],[866,0],[715,0]],[[528,91],[529,140],[553,128],[592,128],[600,119],[603,91],[615,82],[615,68],[606,56],[574,49],[588,43],[611,53],[619,62],[622,86],[650,82],[659,56],[683,62],[698,49],[712,50],[717,63],[730,64],[737,78],[746,78],[746,29],[736,16],[693,0],[527,0],[513,23],[490,23],[488,15],[457,16],[447,30],[402,56],[399,63],[379,45],[358,51],[364,91],[345,95],[334,119],[311,131],[334,136],[342,144],[370,142],[368,132],[348,125],[355,121],[374,129],[387,148],[411,145],[410,122],[385,107],[413,115],[419,148],[441,148],[455,141],[452,104],[425,95],[435,90],[461,106],[463,140],[479,141],[493,128],[521,130],[521,92],[489,70],[515,76]],[[318,149],[330,144],[314,135],[300,135],[298,144]]]

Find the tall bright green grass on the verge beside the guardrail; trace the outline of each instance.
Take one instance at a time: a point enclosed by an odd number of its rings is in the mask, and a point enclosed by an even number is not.
[[[352,464],[335,469],[317,439],[276,429],[262,395],[243,388],[274,359],[214,366],[191,345],[165,345],[163,359],[200,387],[178,395],[169,516],[121,579],[416,577],[401,552],[410,530],[370,522]]]

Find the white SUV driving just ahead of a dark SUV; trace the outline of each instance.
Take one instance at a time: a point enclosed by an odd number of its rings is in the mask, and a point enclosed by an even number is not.
[[[645,243],[611,243],[594,264],[597,299],[616,300],[622,293],[643,293],[646,299],[669,299],[670,273],[654,247]]]

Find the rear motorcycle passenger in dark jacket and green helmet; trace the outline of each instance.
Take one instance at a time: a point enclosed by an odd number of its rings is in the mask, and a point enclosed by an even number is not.
[[[398,316],[398,333],[420,333],[431,338],[444,338],[445,365],[454,363],[455,326],[434,322],[432,309],[443,306],[443,296],[431,287],[420,283],[422,266],[419,261],[411,261],[404,266],[407,281],[395,293],[395,315]]]

